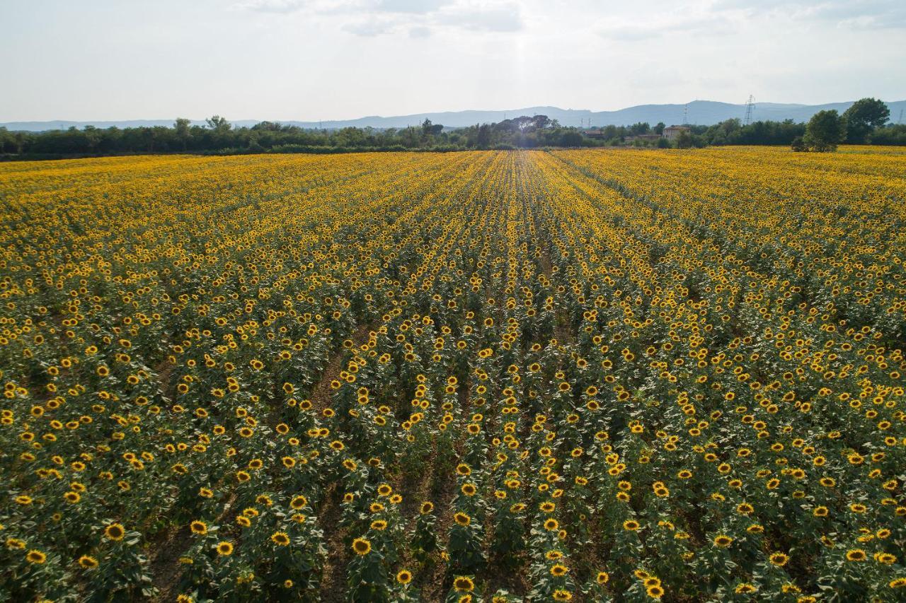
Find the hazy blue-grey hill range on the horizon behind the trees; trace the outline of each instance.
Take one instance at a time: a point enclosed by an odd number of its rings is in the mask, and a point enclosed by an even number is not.
[[[841,113],[847,110],[853,101],[830,102],[823,105],[800,105],[792,103],[757,102],[753,113],[753,120],[794,120],[806,121],[820,110],[835,109]],[[891,120],[897,121],[901,111],[906,110],[906,101],[888,102],[891,110]],[[483,111],[443,111],[439,113],[416,113],[413,115],[400,115],[396,117],[380,117],[377,115],[363,117],[357,120],[325,120],[325,121],[281,121],[301,128],[406,128],[415,126],[424,120],[443,124],[448,128],[462,128],[477,123],[490,123],[502,121],[506,118],[515,118],[520,115],[546,115],[552,120],[559,120],[563,126],[628,126],[639,121],[647,121],[651,125],[663,121],[665,124],[683,123],[684,111],[687,120],[692,124],[709,126],[719,121],[732,118],[742,119],[746,115],[746,105],[732,104],[718,101],[691,101],[688,105],[637,105],[626,109],[614,111],[592,111],[560,109],[558,107],[525,107],[524,109]],[[236,120],[235,126],[253,126],[259,120]],[[192,124],[204,125],[204,120],[194,120]],[[84,128],[95,126],[97,128],[135,128],[138,126],[172,126],[173,120],[123,120],[123,121],[11,121],[0,123],[11,130],[43,131],[47,129],[67,129],[71,126]]]

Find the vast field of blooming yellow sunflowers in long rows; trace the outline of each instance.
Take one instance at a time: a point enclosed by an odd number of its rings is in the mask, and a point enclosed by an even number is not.
[[[0,164],[0,600],[906,598],[906,154]]]

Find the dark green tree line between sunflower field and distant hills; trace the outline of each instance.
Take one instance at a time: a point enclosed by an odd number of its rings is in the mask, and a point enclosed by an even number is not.
[[[561,126],[545,115],[521,116],[496,123],[449,129],[425,120],[400,129],[303,129],[262,121],[235,128],[215,115],[204,126],[178,119],[172,127],[55,129],[43,132],[0,128],[0,154],[6,158],[55,158],[136,153],[333,153],[363,150],[453,151],[472,148],[545,147],[706,147],[709,145],[791,145],[795,150],[833,150],[841,142],[906,145],[906,126],[888,123],[882,101],[857,101],[843,115],[819,111],[809,123],[756,121],[743,125],[725,120],[712,126],[689,126],[679,139],[658,137],[665,124],[639,122],[606,126],[589,137],[582,129]]]

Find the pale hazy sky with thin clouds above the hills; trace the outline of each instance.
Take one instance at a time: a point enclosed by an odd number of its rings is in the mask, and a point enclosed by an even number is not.
[[[906,0],[0,0],[0,121],[906,99]]]

